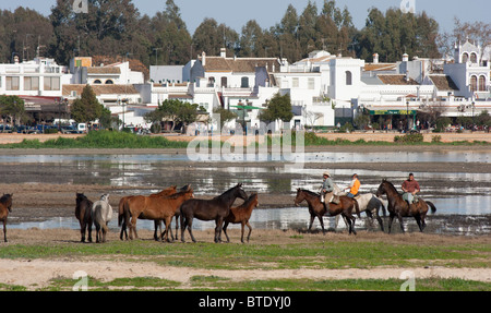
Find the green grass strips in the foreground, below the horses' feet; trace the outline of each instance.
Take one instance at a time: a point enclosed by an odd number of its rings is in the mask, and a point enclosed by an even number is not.
[[[479,243],[421,244],[367,241],[310,242],[295,236],[282,244],[160,243],[152,240],[110,241],[105,244],[52,243],[2,246],[2,258],[56,258],[91,261],[153,262],[163,266],[203,269],[346,269],[373,267],[489,268],[491,246]],[[44,290],[71,290],[76,280],[58,277]],[[398,290],[400,279],[262,279],[249,280],[200,275],[188,282],[155,277],[99,281],[88,278],[91,290]],[[416,279],[417,290],[487,290],[491,284],[463,279]],[[25,290],[23,286],[0,285],[0,290]]]

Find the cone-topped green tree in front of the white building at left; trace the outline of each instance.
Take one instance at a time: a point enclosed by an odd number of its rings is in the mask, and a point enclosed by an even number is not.
[[[103,116],[104,106],[99,104],[91,85],[85,85],[82,96],[72,104],[71,115],[77,123],[95,121]]]

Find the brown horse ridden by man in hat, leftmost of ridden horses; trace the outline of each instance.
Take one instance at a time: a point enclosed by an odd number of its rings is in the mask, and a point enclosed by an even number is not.
[[[312,224],[315,217],[318,217],[321,222],[322,232],[325,234],[324,221],[322,217],[324,215],[327,216],[336,216],[340,214],[348,226],[348,232],[357,234],[355,230],[355,216],[352,216],[352,209],[355,208],[358,217],[360,217],[360,208],[358,206],[358,202],[348,196],[339,196],[339,204],[331,202],[328,204],[328,210],[326,210],[326,206],[321,202],[321,195],[309,190],[297,189],[297,197],[295,198],[295,205],[299,205],[301,202],[307,201],[309,205],[310,213],[310,225],[309,231],[312,229]]]

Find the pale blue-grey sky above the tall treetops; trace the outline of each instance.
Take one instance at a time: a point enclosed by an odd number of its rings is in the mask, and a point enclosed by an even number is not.
[[[311,1],[316,3],[319,11],[322,10],[324,0]],[[385,12],[388,8],[399,8],[402,1],[414,1],[416,12],[426,11],[436,20],[441,32],[452,32],[455,16],[462,22],[491,23],[489,0],[336,0],[336,5],[342,10],[346,5],[355,26],[361,29],[372,7]],[[250,20],[255,20],[262,28],[270,28],[279,23],[290,3],[300,15],[308,2],[309,0],[175,0],[191,35],[205,17],[213,17],[218,24],[225,23],[239,34]],[[141,14],[151,17],[166,8],[166,0],[133,0],[133,3]],[[0,0],[1,10],[27,7],[44,15],[49,15],[55,4],[56,0]]]

